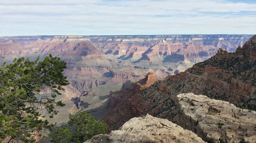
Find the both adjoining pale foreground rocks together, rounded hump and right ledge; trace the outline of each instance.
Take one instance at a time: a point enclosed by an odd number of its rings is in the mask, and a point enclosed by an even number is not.
[[[119,130],[94,136],[86,142],[253,143],[256,139],[256,112],[253,110],[193,93],[170,96],[169,99],[172,104],[165,106],[176,124],[146,115],[132,118]]]

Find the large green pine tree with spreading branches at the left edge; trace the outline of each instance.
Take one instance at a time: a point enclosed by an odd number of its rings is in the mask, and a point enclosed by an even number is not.
[[[65,68],[66,62],[51,54],[42,61],[19,58],[0,67],[0,142],[34,142],[41,131],[53,127],[41,117],[52,118],[58,112],[55,106],[65,105],[55,100],[62,85],[69,84]],[[51,94],[38,96],[40,92]]]

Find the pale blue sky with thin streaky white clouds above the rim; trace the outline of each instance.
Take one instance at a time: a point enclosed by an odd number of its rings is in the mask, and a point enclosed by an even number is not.
[[[0,0],[0,36],[256,34],[256,0]]]

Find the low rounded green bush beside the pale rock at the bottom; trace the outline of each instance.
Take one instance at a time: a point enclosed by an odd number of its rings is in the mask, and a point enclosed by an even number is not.
[[[54,143],[82,143],[94,135],[107,132],[108,126],[106,123],[96,121],[88,111],[78,111],[74,115],[70,115],[67,127],[54,129],[50,133],[50,137]]]

